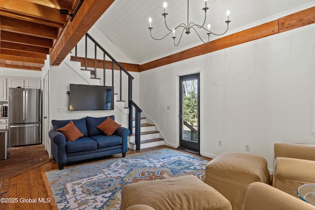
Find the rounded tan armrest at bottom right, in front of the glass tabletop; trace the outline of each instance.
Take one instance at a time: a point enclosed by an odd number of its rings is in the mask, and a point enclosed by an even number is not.
[[[315,207],[262,182],[249,184],[242,197],[242,210],[315,210]]]

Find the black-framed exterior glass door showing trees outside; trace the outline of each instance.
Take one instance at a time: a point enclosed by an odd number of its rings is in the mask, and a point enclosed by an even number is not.
[[[180,149],[200,152],[200,74],[190,74],[180,77],[179,87],[179,120]]]

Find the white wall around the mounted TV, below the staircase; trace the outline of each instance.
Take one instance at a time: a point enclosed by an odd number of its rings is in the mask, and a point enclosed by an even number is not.
[[[70,55],[59,66],[50,66],[50,121],[51,120],[66,120],[66,119],[80,119],[86,116],[91,117],[104,117],[115,115],[115,121],[124,127],[128,127],[128,116],[115,107],[115,110],[107,111],[67,111],[59,112],[59,107],[67,107],[69,109],[69,95],[66,91],[70,89],[70,84],[82,85],[103,85],[103,72],[102,69],[98,70],[97,77],[101,80],[90,79],[90,72],[81,71],[80,63],[70,61]],[[133,77],[133,100],[139,104],[139,73],[129,72]],[[106,70],[106,85],[111,86],[111,70]],[[114,71],[114,92],[119,93],[119,75],[120,71]],[[123,100],[127,101],[127,77],[123,73]],[[117,96],[119,98],[119,95]],[[116,106],[118,102],[114,102]],[[127,102],[126,102],[127,103]],[[124,107],[124,106],[123,106]],[[125,105],[127,107],[127,104]]]

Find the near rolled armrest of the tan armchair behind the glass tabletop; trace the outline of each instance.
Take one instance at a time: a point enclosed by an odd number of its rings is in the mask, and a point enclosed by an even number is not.
[[[297,188],[315,182],[315,161],[277,157],[274,163],[272,185],[294,197]]]

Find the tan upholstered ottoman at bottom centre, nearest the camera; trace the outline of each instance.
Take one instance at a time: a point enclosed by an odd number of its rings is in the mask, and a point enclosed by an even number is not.
[[[224,196],[193,175],[126,184],[120,210],[139,204],[155,210],[232,210]]]

